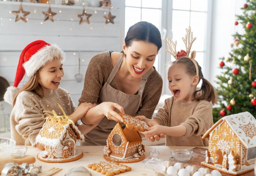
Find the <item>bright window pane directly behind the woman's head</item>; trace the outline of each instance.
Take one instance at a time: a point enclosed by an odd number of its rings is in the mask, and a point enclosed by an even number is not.
[[[161,29],[162,0],[126,0],[125,6],[125,35],[130,26],[140,21],[150,22]],[[154,62],[156,70],[158,70],[158,59],[159,54]]]

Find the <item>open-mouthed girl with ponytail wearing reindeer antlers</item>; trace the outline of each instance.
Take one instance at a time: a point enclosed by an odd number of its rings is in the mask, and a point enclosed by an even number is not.
[[[176,53],[177,42],[167,40],[167,51],[176,59],[168,69],[169,89],[173,96],[165,100],[153,120],[139,117],[151,126],[142,134],[151,141],[156,135],[166,134],[166,146],[208,146],[208,139],[201,136],[213,125],[212,105],[216,103],[216,92],[194,60],[196,51],[189,57],[196,38],[193,38],[190,26],[186,32],[182,38],[186,51]],[[197,90],[200,80],[202,86]]]

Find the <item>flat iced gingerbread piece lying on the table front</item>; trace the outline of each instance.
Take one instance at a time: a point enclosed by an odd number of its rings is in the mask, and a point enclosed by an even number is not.
[[[87,167],[102,174],[106,174],[106,176],[114,176],[115,174],[120,174],[132,170],[132,168],[124,164],[119,164],[113,161],[100,161],[98,163],[88,164]]]

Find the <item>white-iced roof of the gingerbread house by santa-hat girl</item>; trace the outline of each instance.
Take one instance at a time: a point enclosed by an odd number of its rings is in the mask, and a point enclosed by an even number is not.
[[[64,138],[68,127],[73,130],[78,140],[84,142],[84,135],[81,134],[74,122],[70,122],[65,118],[56,120],[56,118],[52,117],[46,119],[42,129],[36,136],[36,142],[51,147],[57,147]]]

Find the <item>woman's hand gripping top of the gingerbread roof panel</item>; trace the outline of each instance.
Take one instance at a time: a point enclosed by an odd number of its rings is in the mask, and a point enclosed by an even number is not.
[[[124,114],[124,108],[117,103],[102,102],[98,105],[99,110],[104,114],[108,120],[114,120],[116,122],[124,122],[124,119],[115,110],[119,110]]]

